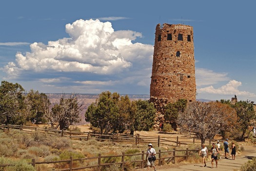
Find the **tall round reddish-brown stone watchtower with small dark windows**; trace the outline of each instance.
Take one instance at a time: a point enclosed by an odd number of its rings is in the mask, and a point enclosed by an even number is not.
[[[196,101],[193,27],[158,24],[154,46],[150,101],[158,112],[178,99]]]

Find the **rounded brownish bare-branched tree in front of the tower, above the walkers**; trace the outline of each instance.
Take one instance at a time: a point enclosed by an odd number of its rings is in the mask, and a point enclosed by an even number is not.
[[[227,131],[237,122],[236,111],[220,102],[189,103],[177,120],[183,133],[194,133],[201,139],[213,138],[220,131]]]

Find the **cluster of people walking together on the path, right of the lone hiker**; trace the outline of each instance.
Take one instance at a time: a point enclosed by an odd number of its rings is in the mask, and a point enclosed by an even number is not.
[[[219,140],[217,141],[217,144],[213,143],[212,144],[213,147],[211,148],[211,159],[212,159],[212,167],[214,166],[214,160],[216,162],[216,168],[218,167],[218,156],[220,158],[220,144],[219,144]],[[216,147],[217,146],[217,147]],[[224,146],[224,152],[225,152],[225,159],[228,159],[228,155],[229,155],[229,144],[228,144],[228,139],[226,139],[223,142],[223,146]],[[236,145],[234,142],[232,142],[232,146],[231,146],[232,152],[232,160],[235,160],[236,157]],[[206,167],[206,162],[205,162],[205,158],[208,157],[208,149],[207,147],[205,147],[205,144],[202,144],[201,146],[201,150],[199,151],[199,155],[202,157],[202,165],[201,167]]]

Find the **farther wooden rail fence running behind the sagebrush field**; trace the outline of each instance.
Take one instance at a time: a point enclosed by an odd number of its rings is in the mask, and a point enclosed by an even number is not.
[[[188,144],[200,144],[201,141],[196,137],[164,137],[158,135],[158,137],[151,137],[145,135],[129,135],[129,134],[121,134],[121,133],[112,133],[112,134],[100,134],[96,132],[71,132],[71,131],[64,131],[64,130],[56,130],[51,128],[40,128],[40,127],[32,127],[32,126],[23,126],[23,125],[0,125],[0,129],[9,131],[10,129],[19,129],[25,133],[34,133],[36,131],[48,133],[50,135],[55,136],[63,136],[69,137],[73,139],[79,140],[89,140],[89,139],[96,139],[96,140],[106,140],[106,141],[113,141],[113,142],[126,142],[135,144],[136,146],[140,143],[156,143],[158,147],[160,145],[167,145],[172,147],[180,147],[180,145],[188,145]],[[216,141],[214,139],[208,139],[209,144],[211,142]]]

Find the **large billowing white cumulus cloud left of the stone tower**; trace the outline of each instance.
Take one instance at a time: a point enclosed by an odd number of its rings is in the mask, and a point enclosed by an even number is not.
[[[69,38],[35,42],[31,52],[17,53],[16,62],[9,62],[3,70],[10,77],[21,76],[25,72],[83,72],[111,75],[124,72],[145,61],[152,65],[153,46],[132,43],[141,33],[134,31],[114,31],[110,22],[98,19],[79,19],[66,24]],[[150,60],[148,60],[150,59]],[[139,71],[140,68],[136,68]]]

